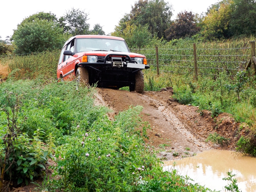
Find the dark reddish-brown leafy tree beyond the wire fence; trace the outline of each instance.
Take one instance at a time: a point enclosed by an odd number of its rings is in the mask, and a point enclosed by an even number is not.
[[[171,26],[165,30],[165,36],[168,40],[180,39],[182,37],[191,37],[199,32],[200,28],[196,26],[195,15],[192,12],[180,12],[177,19]]]

